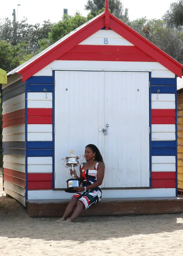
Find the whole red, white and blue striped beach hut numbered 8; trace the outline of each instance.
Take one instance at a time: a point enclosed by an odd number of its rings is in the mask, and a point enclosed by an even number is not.
[[[103,200],[85,214],[182,212],[177,76],[183,65],[105,11],[8,73],[2,86],[4,191],[31,216],[62,215],[61,159],[96,144]],[[77,168],[76,168],[77,169]],[[78,169],[77,169],[78,172]]]

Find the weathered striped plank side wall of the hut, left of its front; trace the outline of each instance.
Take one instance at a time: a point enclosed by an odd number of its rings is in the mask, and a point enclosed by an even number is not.
[[[3,87],[2,108],[3,187],[25,205],[25,83],[21,79],[15,77]]]

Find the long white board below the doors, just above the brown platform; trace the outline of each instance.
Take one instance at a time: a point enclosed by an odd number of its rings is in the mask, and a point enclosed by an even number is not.
[[[176,189],[113,189],[102,190],[102,198],[152,198],[175,197]],[[62,190],[29,190],[28,200],[70,199]]]

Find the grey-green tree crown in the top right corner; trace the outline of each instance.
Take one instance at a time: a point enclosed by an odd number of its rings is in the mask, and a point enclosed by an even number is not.
[[[183,26],[183,0],[171,3],[170,9],[163,16],[163,20],[171,27],[182,28]]]

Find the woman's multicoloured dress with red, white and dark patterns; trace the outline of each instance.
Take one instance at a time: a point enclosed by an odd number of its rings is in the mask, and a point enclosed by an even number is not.
[[[83,163],[81,165],[82,177],[84,178],[82,186],[90,186],[97,181],[97,168],[100,162],[96,163],[95,169],[85,170],[83,169]],[[77,192],[72,196],[83,202],[85,210],[87,210],[92,204],[96,204],[101,201],[101,186],[95,189],[90,189],[86,192]],[[71,199],[72,199],[71,198]]]

